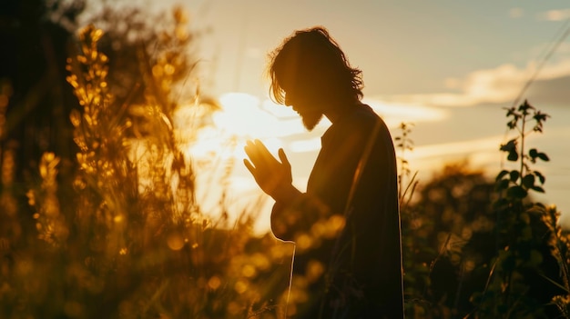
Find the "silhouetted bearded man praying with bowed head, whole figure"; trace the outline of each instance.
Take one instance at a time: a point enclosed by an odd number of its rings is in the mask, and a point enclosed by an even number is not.
[[[402,255],[392,137],[361,103],[361,70],[352,68],[326,29],[297,31],[271,55],[270,93],[293,107],[309,130],[331,127],[307,192],[291,183],[290,163],[260,141],[244,163],[275,204],[271,229],[297,243],[294,274],[307,284],[297,318],[402,318]]]

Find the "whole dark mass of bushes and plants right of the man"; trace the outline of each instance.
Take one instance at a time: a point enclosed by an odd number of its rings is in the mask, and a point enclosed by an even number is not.
[[[526,135],[542,132],[548,115],[525,102],[518,110],[508,109],[507,117],[519,135],[501,150],[509,161],[518,161],[514,170],[493,181],[458,163],[445,165],[420,186],[409,180],[406,189],[412,194],[401,197],[401,213],[410,317],[568,317],[570,237],[558,224],[555,206],[534,203],[527,195],[544,192],[545,176],[530,165],[548,157],[536,149],[522,151]],[[410,125],[401,129],[395,140],[402,155],[412,149],[403,143]],[[405,164],[401,179],[410,174]]]

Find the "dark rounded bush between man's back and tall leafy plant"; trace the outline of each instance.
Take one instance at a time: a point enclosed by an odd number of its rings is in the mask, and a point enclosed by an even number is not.
[[[472,307],[470,292],[484,283],[485,263],[494,255],[494,186],[468,167],[446,165],[402,209],[408,314],[464,315]]]

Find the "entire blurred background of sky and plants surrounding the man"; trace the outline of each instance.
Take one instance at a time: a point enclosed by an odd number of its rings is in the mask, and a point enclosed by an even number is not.
[[[282,147],[304,189],[329,123],[264,70],[313,25],[391,128],[407,316],[570,317],[567,2],[0,5],[0,317],[298,314],[341,220],[277,240],[241,161]]]

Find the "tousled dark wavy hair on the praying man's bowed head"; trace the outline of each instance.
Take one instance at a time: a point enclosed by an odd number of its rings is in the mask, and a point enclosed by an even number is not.
[[[351,67],[337,42],[322,26],[296,31],[270,53],[270,96],[284,104],[284,87],[300,85],[312,97],[342,102],[362,98],[361,70]]]

